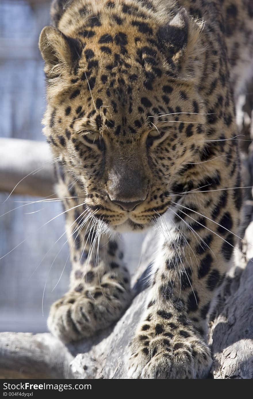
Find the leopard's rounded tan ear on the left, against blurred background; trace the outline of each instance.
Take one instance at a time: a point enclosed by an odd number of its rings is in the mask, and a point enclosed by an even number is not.
[[[60,74],[62,67],[72,67],[80,58],[80,45],[76,39],[65,36],[53,26],[45,26],[40,34],[39,48],[45,61],[48,77]]]

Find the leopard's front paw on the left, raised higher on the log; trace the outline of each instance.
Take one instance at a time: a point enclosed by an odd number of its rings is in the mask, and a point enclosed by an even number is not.
[[[48,328],[64,342],[90,337],[118,320],[126,308],[130,292],[102,291],[91,287],[85,292],[68,292],[54,302],[48,317]]]

